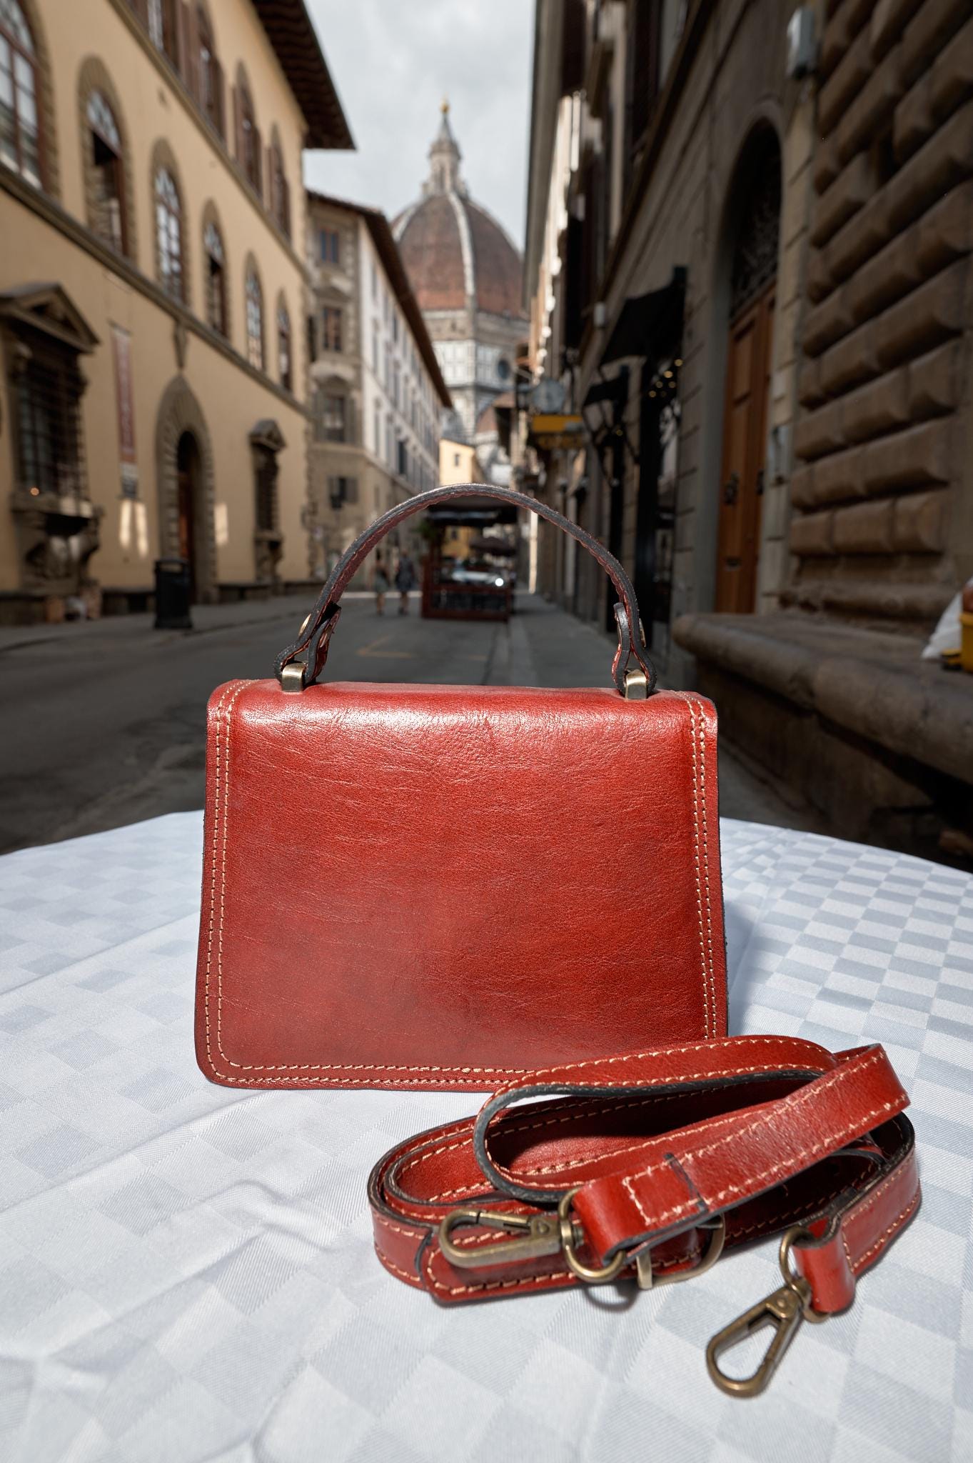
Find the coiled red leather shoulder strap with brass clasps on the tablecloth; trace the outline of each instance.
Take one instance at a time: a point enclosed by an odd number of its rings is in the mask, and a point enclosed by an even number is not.
[[[742,1036],[552,1067],[389,1151],[375,1248],[451,1304],[633,1276],[688,1279],[783,1232],[783,1285],[710,1343],[760,1390],[802,1317],[850,1305],[919,1207],[906,1093],[881,1046]],[[761,1368],[717,1359],[773,1324]]]

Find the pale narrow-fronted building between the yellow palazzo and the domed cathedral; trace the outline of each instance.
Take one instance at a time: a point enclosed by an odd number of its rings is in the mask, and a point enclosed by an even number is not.
[[[451,402],[384,214],[308,193],[308,571],[324,578],[373,519],[435,487]]]

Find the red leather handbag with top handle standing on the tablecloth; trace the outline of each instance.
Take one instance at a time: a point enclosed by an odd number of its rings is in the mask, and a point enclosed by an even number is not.
[[[365,556],[466,496],[539,514],[608,572],[611,689],[317,685]],[[624,569],[554,509],[479,484],[390,509],[276,676],[209,702],[203,1072],[478,1090],[725,1030],[713,707],[656,691]]]

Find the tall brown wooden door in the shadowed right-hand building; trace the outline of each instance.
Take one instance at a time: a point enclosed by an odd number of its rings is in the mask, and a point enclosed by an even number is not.
[[[771,282],[729,332],[716,609],[735,614],[749,613],[757,598],[773,320]]]

